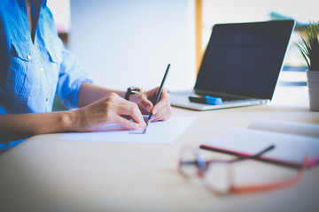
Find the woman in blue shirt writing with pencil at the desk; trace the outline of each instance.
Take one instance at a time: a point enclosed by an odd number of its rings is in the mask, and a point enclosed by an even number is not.
[[[171,117],[166,89],[154,106],[158,87],[130,95],[128,101],[125,92],[92,84],[58,38],[45,0],[2,0],[0,17],[2,148],[30,135],[88,132],[109,123],[140,129],[145,125],[142,114],[150,111],[153,120]],[[52,112],[55,95],[78,109]]]

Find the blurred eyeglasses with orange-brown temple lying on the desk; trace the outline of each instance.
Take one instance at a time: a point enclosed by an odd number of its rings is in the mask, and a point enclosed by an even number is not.
[[[292,178],[287,178],[274,183],[235,186],[235,173],[232,163],[245,159],[257,159],[273,148],[274,146],[270,146],[256,155],[237,156],[237,158],[232,160],[204,160],[197,149],[185,147],[180,154],[178,170],[185,178],[199,178],[210,192],[218,195],[262,192],[292,186],[298,182],[306,171],[309,163],[308,156],[305,156],[300,166],[300,170]]]

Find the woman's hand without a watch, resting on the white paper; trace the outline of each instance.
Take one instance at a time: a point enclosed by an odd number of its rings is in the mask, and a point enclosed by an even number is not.
[[[110,93],[78,110],[74,110],[74,131],[92,131],[105,124],[118,124],[129,129],[141,129],[146,124],[135,102],[128,102],[115,93]],[[128,119],[133,119],[134,122]]]

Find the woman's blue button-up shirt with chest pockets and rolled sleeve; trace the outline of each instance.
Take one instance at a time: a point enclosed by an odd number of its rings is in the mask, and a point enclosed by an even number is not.
[[[25,0],[0,1],[0,114],[51,112],[54,95],[78,107],[82,82],[91,82],[58,38],[44,0],[32,0],[37,20],[32,41]]]

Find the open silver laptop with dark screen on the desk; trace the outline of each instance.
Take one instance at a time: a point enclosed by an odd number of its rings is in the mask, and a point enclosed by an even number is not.
[[[215,110],[271,101],[294,27],[294,20],[215,25],[195,87],[170,92],[172,106]],[[222,104],[190,102],[194,95],[220,97]]]

